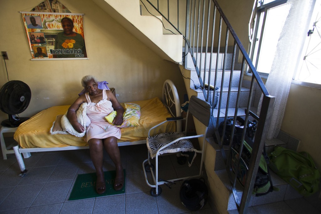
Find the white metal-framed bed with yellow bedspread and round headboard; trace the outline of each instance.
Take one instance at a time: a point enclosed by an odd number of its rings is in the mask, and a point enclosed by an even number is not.
[[[180,117],[181,109],[175,85],[171,80],[166,80],[162,89],[162,101],[158,98],[135,101],[140,106],[139,126],[122,128],[122,136],[117,141],[118,146],[135,144],[145,144],[148,131],[158,123],[163,122],[168,117]],[[26,175],[26,167],[22,159],[30,156],[30,152],[61,151],[88,149],[88,144],[84,137],[76,137],[66,134],[51,134],[50,129],[53,121],[58,115],[63,115],[68,110],[69,105],[53,106],[31,117],[23,122],[15,131],[14,139],[18,142],[13,147],[14,154],[21,170],[20,176]],[[167,132],[181,130],[181,123],[169,122],[155,130],[157,132]]]

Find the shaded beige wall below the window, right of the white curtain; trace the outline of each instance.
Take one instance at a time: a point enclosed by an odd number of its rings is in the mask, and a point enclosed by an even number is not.
[[[321,89],[291,84],[281,130],[298,138],[321,169]]]

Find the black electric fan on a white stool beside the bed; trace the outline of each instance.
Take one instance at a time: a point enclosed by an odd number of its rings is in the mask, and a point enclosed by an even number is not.
[[[19,80],[7,82],[0,89],[0,109],[9,115],[8,120],[1,122],[4,127],[18,127],[29,117],[18,117],[30,103],[31,91],[27,84]]]

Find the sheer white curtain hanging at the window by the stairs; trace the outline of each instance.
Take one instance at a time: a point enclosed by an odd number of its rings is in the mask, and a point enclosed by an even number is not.
[[[267,138],[279,134],[285,106],[290,91],[293,72],[298,66],[303,41],[308,33],[308,17],[312,13],[315,0],[288,0],[290,11],[276,47],[271,71],[266,81],[268,92],[275,97],[274,109]],[[261,109],[262,97],[258,111]]]

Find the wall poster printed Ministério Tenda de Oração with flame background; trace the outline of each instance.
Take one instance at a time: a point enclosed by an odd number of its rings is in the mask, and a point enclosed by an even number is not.
[[[21,12],[31,60],[87,59],[83,14]]]

